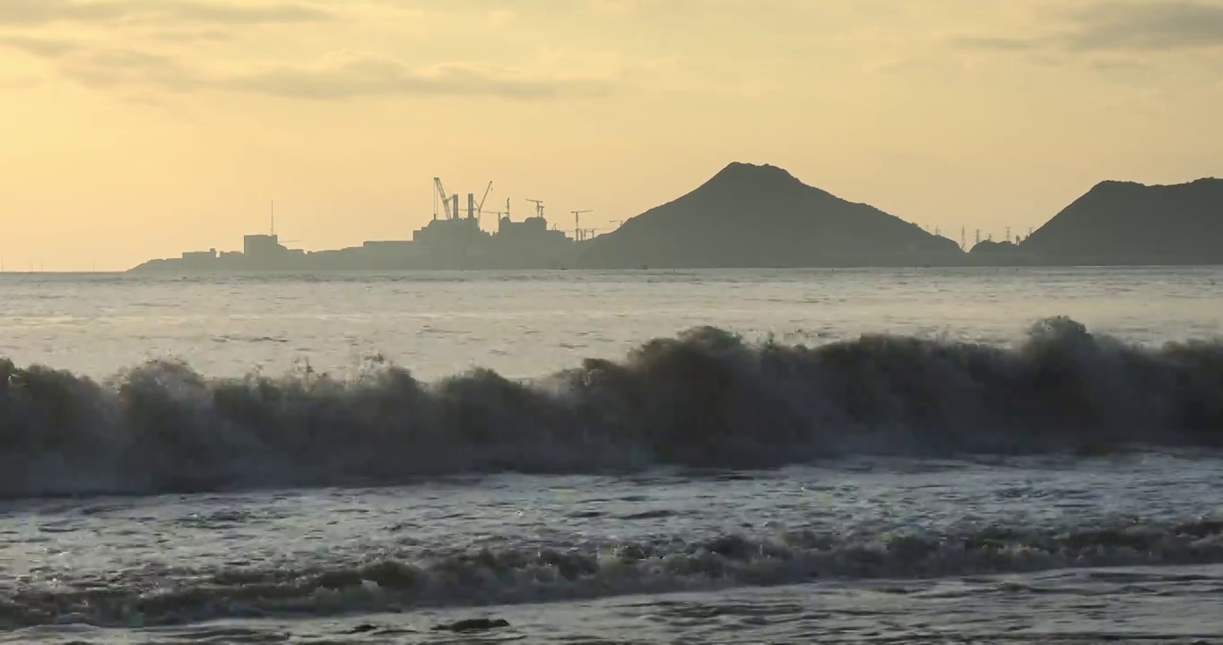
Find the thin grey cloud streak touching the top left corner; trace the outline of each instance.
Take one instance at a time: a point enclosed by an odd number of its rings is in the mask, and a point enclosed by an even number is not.
[[[0,0],[0,26],[10,27],[120,21],[258,24],[333,18],[330,12],[291,2],[238,5],[210,0]]]

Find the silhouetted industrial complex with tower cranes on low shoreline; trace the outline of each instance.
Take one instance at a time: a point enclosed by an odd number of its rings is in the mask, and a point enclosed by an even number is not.
[[[467,193],[465,210],[460,210],[459,195],[448,194],[440,178],[434,177],[433,184],[433,220],[412,232],[411,239],[375,239],[334,250],[289,248],[276,235],[273,209],[269,232],[245,236],[241,252],[185,252],[180,258],[149,260],[132,270],[565,269],[577,258],[576,241],[593,233],[576,226],[578,215],[586,211],[574,211],[574,237],[549,227],[538,199],[527,200],[534,204],[534,215],[522,221],[511,219],[509,199],[505,210],[484,211],[492,182],[478,203],[475,193]],[[481,226],[484,215],[497,216],[495,231]]]

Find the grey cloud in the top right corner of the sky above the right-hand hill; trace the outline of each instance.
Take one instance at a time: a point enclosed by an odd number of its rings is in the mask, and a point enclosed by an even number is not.
[[[1029,35],[954,38],[969,49],[1068,53],[1168,53],[1223,49],[1223,2],[1099,1],[1064,15],[1057,28]]]

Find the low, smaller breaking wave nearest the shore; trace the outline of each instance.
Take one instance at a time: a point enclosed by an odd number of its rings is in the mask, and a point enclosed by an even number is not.
[[[819,579],[889,579],[895,592],[905,592],[904,579],[1219,562],[1223,520],[1211,519],[1180,524],[1134,520],[1060,531],[998,527],[947,535],[728,534],[696,541],[659,538],[308,567],[187,568],[161,572],[165,575],[152,581],[147,574],[157,572],[139,570],[137,578],[116,577],[100,586],[60,585],[5,594],[0,596],[0,625],[76,622],[144,627],[220,617],[508,605]]]

